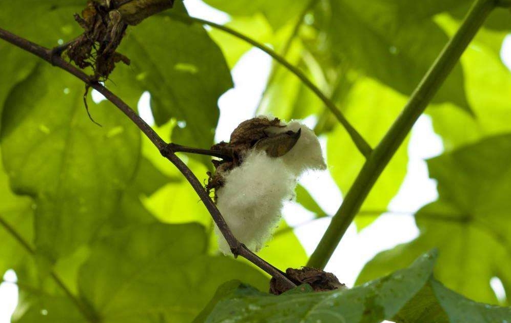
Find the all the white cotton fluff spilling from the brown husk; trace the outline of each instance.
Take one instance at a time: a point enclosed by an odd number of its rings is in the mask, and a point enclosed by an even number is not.
[[[260,116],[258,118],[267,118]],[[222,174],[224,185],[217,189],[217,206],[233,235],[248,249],[257,252],[270,238],[281,217],[283,202],[292,199],[298,177],[307,169],[325,169],[321,146],[314,132],[297,121],[268,127],[268,136],[286,131],[301,135],[297,143],[281,157],[269,157],[265,151],[247,150],[240,166]],[[220,250],[231,254],[227,241],[215,227]]]

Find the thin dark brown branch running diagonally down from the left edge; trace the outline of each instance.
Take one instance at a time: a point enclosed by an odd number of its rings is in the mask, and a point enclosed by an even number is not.
[[[10,33],[2,28],[0,28],[0,38],[5,41],[22,48],[26,51],[31,52],[32,54],[39,56],[43,60],[53,64],[56,67],[59,67],[71,74],[73,74],[76,78],[82,80],[86,85],[91,88],[97,90],[103,96],[113,103],[117,108],[119,108],[133,123],[139,127],[139,129],[149,138],[149,140],[160,150],[160,153],[163,157],[167,158],[176,168],[179,169],[181,174],[188,180],[190,185],[195,190],[195,193],[200,197],[204,205],[206,206],[208,212],[210,213],[213,221],[218,225],[222,235],[227,240],[229,247],[231,248],[234,256],[242,256],[246,258],[253,264],[257,265],[260,269],[271,275],[272,277],[280,280],[289,288],[293,288],[296,285],[291,282],[283,272],[273,267],[268,262],[261,259],[259,256],[255,255],[251,252],[246,246],[240,243],[232,234],[229,226],[225,222],[224,218],[220,214],[217,206],[209,197],[209,194],[206,192],[205,188],[202,186],[201,182],[195,177],[195,175],[191,172],[190,168],[181,160],[178,156],[175,155],[176,151],[184,151],[183,147],[176,144],[167,144],[156,132],[142,119],[136,112],[131,109],[121,98],[117,97],[114,93],[112,93],[109,89],[101,85],[99,82],[93,81],[87,74],[85,74],[82,70],[77,67],[71,65],[66,62],[60,56],[55,56],[54,52],[51,49],[45,48],[41,45],[32,43],[26,39],[23,39],[20,36],[17,36],[13,33]],[[173,150],[175,149],[175,150]],[[199,150],[199,149],[196,149]],[[213,155],[214,156],[214,155]]]

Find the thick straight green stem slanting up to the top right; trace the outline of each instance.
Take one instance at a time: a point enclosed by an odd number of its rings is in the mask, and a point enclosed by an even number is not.
[[[496,5],[494,0],[476,0],[470,8],[459,30],[411,94],[401,115],[366,160],[316,250],[310,256],[307,266],[325,267],[383,169]]]

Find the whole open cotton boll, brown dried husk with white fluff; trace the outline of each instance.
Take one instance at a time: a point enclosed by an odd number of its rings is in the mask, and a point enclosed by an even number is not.
[[[294,197],[298,177],[307,169],[326,167],[314,132],[298,121],[261,116],[242,122],[228,143],[211,147],[231,156],[215,160],[207,189],[234,236],[259,251],[277,226],[285,200]],[[230,254],[215,228],[220,250]]]

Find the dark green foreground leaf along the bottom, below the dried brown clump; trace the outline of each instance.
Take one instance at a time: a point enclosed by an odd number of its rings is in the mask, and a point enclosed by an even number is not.
[[[424,287],[435,258],[425,254],[407,269],[350,290],[274,296],[242,286],[221,299],[205,322],[381,322]]]

